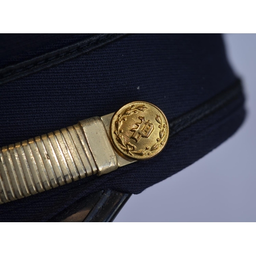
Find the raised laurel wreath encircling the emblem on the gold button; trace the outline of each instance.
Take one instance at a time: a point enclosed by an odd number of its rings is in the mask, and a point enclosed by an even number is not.
[[[163,138],[165,135],[165,124],[162,123],[162,118],[161,116],[156,115],[156,121],[159,123],[159,138],[157,138],[157,142],[150,148],[150,147],[145,147],[145,150],[137,150],[136,145],[134,145],[133,143],[125,143],[124,139],[123,139],[123,130],[121,129],[122,123],[123,121],[126,121],[126,117],[130,116],[132,114],[137,113],[138,111],[144,112],[147,109],[147,107],[145,105],[139,105],[139,106],[135,106],[132,105],[131,108],[127,109],[123,114],[119,114],[118,118],[115,122],[116,124],[116,131],[114,132],[115,135],[117,136],[117,141],[120,145],[120,147],[122,148],[122,150],[124,150],[127,154],[133,156],[133,155],[140,155],[140,156],[144,156],[144,155],[151,155],[151,152],[157,150],[159,148],[159,146],[163,145]]]

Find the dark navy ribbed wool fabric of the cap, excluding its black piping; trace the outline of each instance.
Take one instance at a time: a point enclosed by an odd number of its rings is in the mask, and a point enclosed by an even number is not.
[[[10,43],[14,53],[1,49],[0,68],[90,36],[45,35],[41,36],[41,45],[36,36],[30,35],[26,44],[20,38],[20,48]],[[236,79],[221,35],[128,35],[55,67],[2,84],[0,146],[115,112],[137,100],[154,103],[171,122],[222,92]],[[230,137],[244,119],[243,103],[241,94],[186,127],[170,137],[163,152],[151,160],[0,205],[0,221],[47,221],[79,198],[101,189],[141,193]]]

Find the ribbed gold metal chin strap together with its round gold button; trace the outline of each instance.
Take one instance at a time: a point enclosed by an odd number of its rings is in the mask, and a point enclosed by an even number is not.
[[[161,110],[135,101],[114,116],[88,118],[4,146],[0,149],[0,204],[152,158],[167,139],[168,123]]]

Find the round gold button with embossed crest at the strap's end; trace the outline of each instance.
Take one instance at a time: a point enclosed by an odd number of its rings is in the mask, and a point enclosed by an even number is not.
[[[146,160],[163,150],[168,140],[169,126],[157,106],[134,101],[114,114],[110,134],[118,153],[134,160]]]

